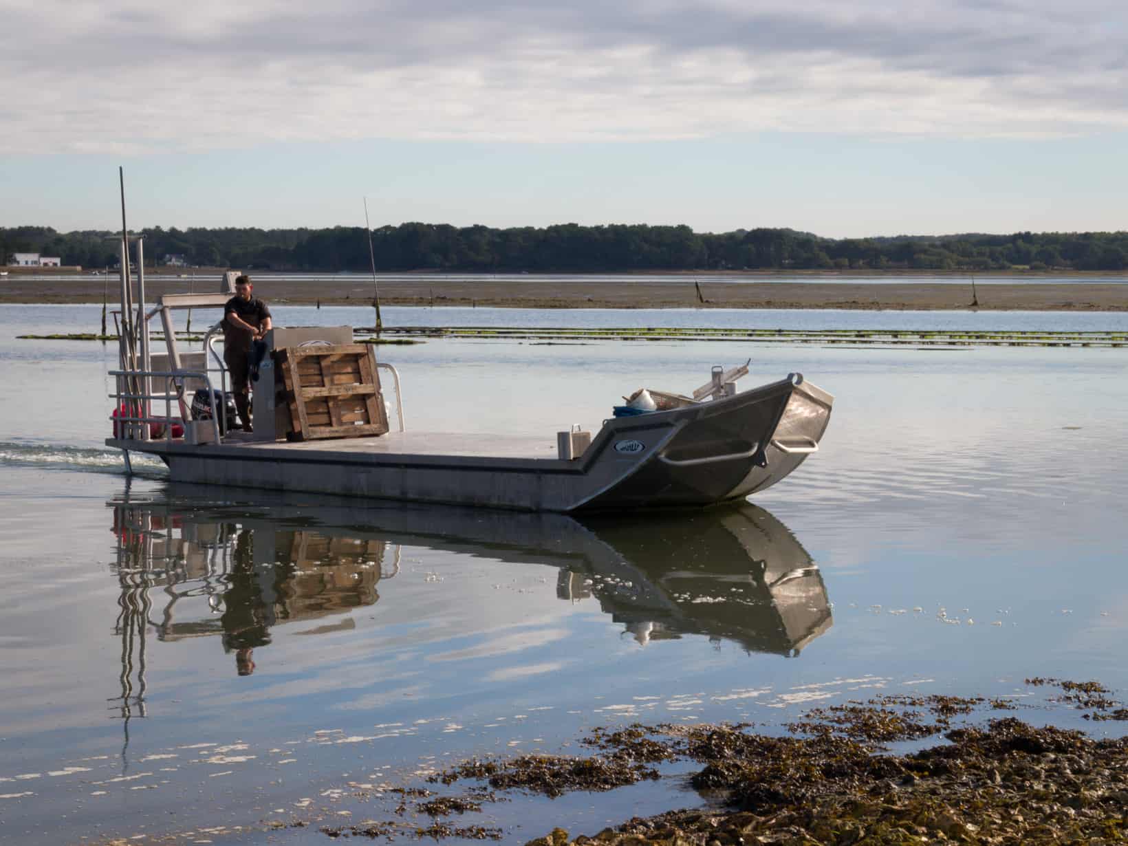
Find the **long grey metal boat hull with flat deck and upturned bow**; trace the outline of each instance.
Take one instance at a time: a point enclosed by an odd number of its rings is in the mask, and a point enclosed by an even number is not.
[[[724,399],[610,420],[574,460],[553,457],[548,444],[544,457],[511,457],[504,439],[491,455],[468,449],[469,437],[459,435],[107,444],[158,455],[173,481],[194,484],[522,511],[699,506],[747,496],[793,472],[817,448],[831,403],[792,376]]]

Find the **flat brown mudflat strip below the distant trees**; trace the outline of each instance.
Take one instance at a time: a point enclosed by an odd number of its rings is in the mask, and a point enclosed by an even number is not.
[[[102,302],[102,279],[64,281],[14,276],[0,281],[0,303]],[[109,283],[111,302],[117,299],[117,281]],[[200,280],[197,293],[214,290]],[[889,309],[938,310],[972,307],[967,282],[705,282],[693,279],[662,281],[561,280],[522,281],[492,279],[388,280],[380,282],[380,301],[389,306],[491,306],[509,308],[781,308],[781,309]],[[187,280],[150,280],[147,297],[186,293]],[[368,305],[371,283],[349,277],[326,281],[274,281],[263,277],[255,293],[272,303]],[[1039,284],[980,284],[978,308],[1032,311],[1125,311],[1128,284],[1052,282]],[[702,301],[704,299],[704,302]]]

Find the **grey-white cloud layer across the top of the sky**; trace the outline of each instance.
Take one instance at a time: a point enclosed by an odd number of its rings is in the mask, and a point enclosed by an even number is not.
[[[1128,125],[1128,8],[1008,0],[8,3],[3,152]]]

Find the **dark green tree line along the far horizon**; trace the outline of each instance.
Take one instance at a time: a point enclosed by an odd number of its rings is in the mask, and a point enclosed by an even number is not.
[[[272,271],[369,270],[368,236],[356,227],[257,229],[153,227],[146,264],[183,256],[188,265]],[[58,232],[50,227],[0,228],[0,256],[59,256],[64,265],[114,266],[111,231]],[[563,223],[544,228],[402,223],[372,231],[380,272],[564,272],[741,270],[1030,268],[1122,271],[1128,232],[1014,232],[875,238],[820,238],[793,229],[695,232],[688,226]]]

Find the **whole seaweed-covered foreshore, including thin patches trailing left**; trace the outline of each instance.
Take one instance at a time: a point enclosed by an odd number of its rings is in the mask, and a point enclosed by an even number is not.
[[[1092,721],[1126,717],[1098,682],[1026,679]],[[1010,699],[879,696],[817,707],[783,733],[751,724],[661,723],[599,729],[585,756],[461,761],[402,790],[398,820],[321,827],[332,837],[512,840],[499,827],[441,821],[520,794],[613,791],[686,768],[707,808],[675,810],[591,832],[555,828],[527,846],[583,844],[1112,844],[1128,840],[1128,739],[1034,726],[1007,714],[971,724]],[[957,722],[959,721],[959,722]],[[887,744],[920,747],[891,752]],[[433,790],[431,790],[433,787]],[[453,787],[462,792],[440,796]],[[408,822],[426,816],[430,825]],[[308,822],[298,823],[302,826]],[[549,823],[550,825],[550,823]]]

